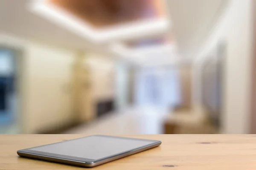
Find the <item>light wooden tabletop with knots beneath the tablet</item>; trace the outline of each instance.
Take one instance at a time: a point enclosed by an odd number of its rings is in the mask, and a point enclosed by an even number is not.
[[[23,148],[87,135],[0,135],[0,170],[75,170],[17,156]],[[160,147],[112,161],[97,170],[256,170],[256,135],[123,135],[156,139]]]

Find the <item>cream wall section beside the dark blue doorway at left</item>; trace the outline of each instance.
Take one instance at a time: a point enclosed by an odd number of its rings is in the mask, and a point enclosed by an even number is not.
[[[74,119],[71,74],[76,51],[6,34],[0,34],[0,45],[23,51],[22,133],[37,133],[70,123]]]

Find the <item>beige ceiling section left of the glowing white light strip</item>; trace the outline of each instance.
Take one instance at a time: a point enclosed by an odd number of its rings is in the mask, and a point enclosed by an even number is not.
[[[29,12],[27,10],[29,2],[29,0],[0,0],[0,33],[3,31],[18,37],[68,48],[90,48],[91,43],[83,37]]]

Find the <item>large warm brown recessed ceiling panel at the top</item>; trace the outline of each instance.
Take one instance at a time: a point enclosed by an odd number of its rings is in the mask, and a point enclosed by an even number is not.
[[[48,0],[96,28],[165,15],[163,0]]]

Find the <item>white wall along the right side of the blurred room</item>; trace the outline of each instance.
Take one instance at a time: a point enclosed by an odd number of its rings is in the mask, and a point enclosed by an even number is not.
[[[216,24],[194,63],[195,104],[201,103],[201,63],[219,42],[226,42],[224,65],[223,133],[248,133],[250,113],[250,84],[252,61],[252,1],[230,0],[223,16]]]

